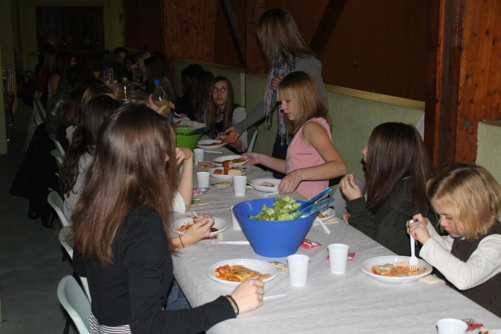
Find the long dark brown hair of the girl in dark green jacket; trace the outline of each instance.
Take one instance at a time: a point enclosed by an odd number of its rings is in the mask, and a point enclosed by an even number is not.
[[[410,178],[413,211],[428,213],[426,183],[435,177],[423,140],[416,128],[383,123],[372,130],[367,153],[367,206],[377,211],[403,178]]]

